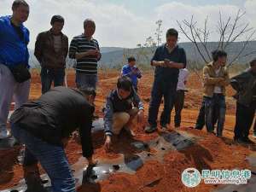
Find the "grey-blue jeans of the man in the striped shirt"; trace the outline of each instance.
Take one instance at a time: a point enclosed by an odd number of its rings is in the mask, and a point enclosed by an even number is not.
[[[78,88],[94,88],[96,89],[96,83],[98,81],[97,75],[88,75],[85,73],[76,73],[76,84]]]

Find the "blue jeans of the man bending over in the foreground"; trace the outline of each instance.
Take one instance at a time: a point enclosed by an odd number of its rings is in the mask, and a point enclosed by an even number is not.
[[[75,192],[75,180],[64,148],[51,145],[34,137],[31,133],[21,128],[19,125],[12,124],[11,130],[14,137],[26,145],[25,161],[36,163],[37,160],[48,174],[53,192]],[[30,159],[30,160],[29,160]]]

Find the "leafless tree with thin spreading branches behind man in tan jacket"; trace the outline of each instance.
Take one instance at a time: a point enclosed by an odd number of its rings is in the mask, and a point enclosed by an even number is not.
[[[218,47],[217,49],[226,50],[230,48],[230,45],[237,42],[238,40],[244,39],[241,48],[238,50],[237,54],[230,59],[227,67],[233,65],[234,61],[238,58],[252,55],[256,50],[253,50],[251,53],[246,53],[242,55],[244,50],[246,49],[248,43],[253,40],[253,36],[255,34],[255,30],[253,27],[249,26],[249,23],[243,23],[243,18],[245,16],[245,12],[241,12],[241,10],[237,11],[237,14],[234,19],[231,16],[224,20],[221,13],[219,13],[219,20],[217,25],[218,32]],[[208,25],[208,17],[204,21],[204,26],[198,26],[198,22],[195,20],[194,16],[191,16],[191,20],[177,20],[177,25],[181,32],[189,39],[194,45],[198,53],[201,55],[201,59],[203,61],[210,62],[212,61],[212,57],[210,55],[210,50],[208,47],[208,42],[210,32]]]

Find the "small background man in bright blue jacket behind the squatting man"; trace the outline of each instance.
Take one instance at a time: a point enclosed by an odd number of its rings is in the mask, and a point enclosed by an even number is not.
[[[143,76],[139,68],[136,66],[136,59],[133,56],[128,58],[128,64],[122,68],[121,75],[129,77],[134,90],[137,91],[137,79],[141,79]]]

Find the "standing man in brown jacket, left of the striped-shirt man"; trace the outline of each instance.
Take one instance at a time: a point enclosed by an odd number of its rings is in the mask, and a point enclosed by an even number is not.
[[[50,20],[51,29],[38,34],[34,55],[41,65],[42,94],[50,89],[52,81],[55,86],[62,86],[65,76],[68,38],[61,30],[64,18],[54,15]]]

